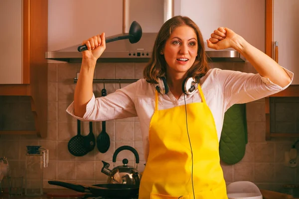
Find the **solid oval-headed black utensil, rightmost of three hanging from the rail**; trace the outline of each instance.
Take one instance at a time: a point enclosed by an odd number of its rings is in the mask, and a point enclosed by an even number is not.
[[[106,89],[102,89],[102,97],[107,96]],[[102,131],[97,137],[97,148],[101,153],[106,153],[110,147],[110,137],[106,132],[106,121],[102,121]]]

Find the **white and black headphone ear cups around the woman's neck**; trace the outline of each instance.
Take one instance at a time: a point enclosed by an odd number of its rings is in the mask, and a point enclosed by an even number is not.
[[[198,87],[198,82],[199,82],[199,78],[196,82],[193,78],[184,79],[183,84],[182,84],[183,93],[186,94],[186,95],[193,94],[195,92],[195,90],[197,89],[197,87]],[[167,94],[168,93],[169,87],[167,85],[165,77],[159,77],[158,78],[158,84],[156,85],[155,89],[160,94]]]

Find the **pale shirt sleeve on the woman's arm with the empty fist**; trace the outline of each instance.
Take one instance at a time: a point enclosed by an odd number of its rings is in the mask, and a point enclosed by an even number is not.
[[[291,82],[281,87],[260,74],[239,71],[217,70],[217,81],[222,89],[225,110],[236,103],[247,103],[285,90],[293,82],[294,73],[284,68]]]

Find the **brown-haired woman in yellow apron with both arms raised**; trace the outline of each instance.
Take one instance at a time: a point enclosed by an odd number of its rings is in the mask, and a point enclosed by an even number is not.
[[[259,74],[209,69],[199,28],[188,17],[175,16],[158,32],[145,79],[95,99],[93,74],[105,34],[82,43],[89,50],[82,53],[67,111],[81,120],[139,117],[147,161],[140,199],[227,199],[218,150],[225,111],[292,82],[293,73],[228,28],[215,30],[207,43],[236,49]]]

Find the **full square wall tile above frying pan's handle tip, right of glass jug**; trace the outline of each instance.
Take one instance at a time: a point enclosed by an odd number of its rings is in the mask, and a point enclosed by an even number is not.
[[[57,179],[76,180],[76,162],[74,162],[74,161],[58,161]]]

